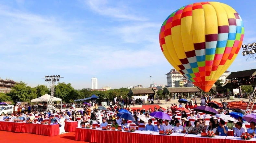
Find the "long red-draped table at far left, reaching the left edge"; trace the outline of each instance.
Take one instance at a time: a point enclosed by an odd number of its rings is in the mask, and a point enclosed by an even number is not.
[[[58,124],[44,125],[37,123],[0,121],[0,130],[12,131],[16,133],[30,133],[44,136],[56,136],[60,134]]]

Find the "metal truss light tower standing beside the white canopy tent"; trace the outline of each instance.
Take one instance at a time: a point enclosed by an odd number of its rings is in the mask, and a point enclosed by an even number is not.
[[[42,79],[45,79],[46,83],[51,82],[51,97],[47,104],[47,110],[51,110],[51,111],[56,110],[56,107],[54,106],[54,91],[55,91],[54,89],[55,89],[55,82],[60,81],[59,78],[63,78],[63,77],[60,77],[60,75],[51,75],[51,76],[46,75],[44,76],[44,78],[42,78]]]

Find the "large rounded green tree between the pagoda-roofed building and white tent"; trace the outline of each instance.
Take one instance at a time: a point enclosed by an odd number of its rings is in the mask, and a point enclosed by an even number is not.
[[[10,96],[14,103],[18,101],[30,102],[30,100],[37,98],[36,88],[31,88],[22,81],[17,83],[9,93],[6,93],[6,95]]]

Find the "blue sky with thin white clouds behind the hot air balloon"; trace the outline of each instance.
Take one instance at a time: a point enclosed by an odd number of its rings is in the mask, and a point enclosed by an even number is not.
[[[176,9],[198,1],[9,0],[0,1],[0,77],[45,84],[59,74],[74,88],[167,84],[167,62],[158,43],[161,24]],[[244,21],[244,43],[256,41],[255,2],[219,1]],[[256,68],[239,52],[228,71]]]

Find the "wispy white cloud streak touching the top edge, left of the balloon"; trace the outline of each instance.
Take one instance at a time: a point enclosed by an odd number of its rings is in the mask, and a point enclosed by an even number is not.
[[[117,1],[113,1],[109,5],[107,0],[88,0],[85,1],[87,5],[95,12],[100,15],[117,18],[119,20],[134,20],[134,21],[146,21],[147,18],[136,16],[132,8],[126,7],[124,4],[111,6],[118,4]]]

